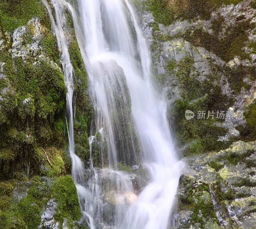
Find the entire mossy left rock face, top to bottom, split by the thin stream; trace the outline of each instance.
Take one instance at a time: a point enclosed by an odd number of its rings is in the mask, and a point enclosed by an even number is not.
[[[87,160],[87,74],[70,22],[65,33],[76,77],[76,153]],[[58,45],[42,2],[1,1],[0,228],[86,228],[67,175],[65,94]]]

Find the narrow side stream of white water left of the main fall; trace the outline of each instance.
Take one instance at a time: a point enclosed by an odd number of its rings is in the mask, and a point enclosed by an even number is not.
[[[77,194],[79,196],[79,202],[81,210],[84,217],[87,220],[90,228],[94,228],[94,223],[91,215],[94,213],[93,207],[84,211],[83,205],[93,206],[95,204],[93,194],[85,188],[85,178],[84,178],[84,164],[80,158],[75,154],[75,143],[74,143],[74,126],[73,126],[73,94],[74,94],[74,85],[73,85],[73,66],[70,61],[70,56],[68,53],[67,40],[64,35],[63,27],[66,25],[65,17],[62,13],[62,4],[58,1],[52,1],[52,5],[56,12],[56,23],[52,14],[52,9],[46,0],[42,0],[44,3],[49,17],[52,23],[52,28],[55,32],[58,47],[60,50],[60,60],[63,68],[63,75],[66,85],[66,100],[67,100],[67,127],[68,127],[68,141],[69,141],[69,154],[72,160],[72,177],[76,184]],[[97,173],[95,174],[95,178]],[[97,187],[96,187],[97,188]]]

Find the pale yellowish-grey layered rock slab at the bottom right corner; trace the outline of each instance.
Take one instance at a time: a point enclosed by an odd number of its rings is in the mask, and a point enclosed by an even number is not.
[[[190,170],[180,178],[174,228],[253,228],[255,144],[238,141],[228,149],[188,158]]]

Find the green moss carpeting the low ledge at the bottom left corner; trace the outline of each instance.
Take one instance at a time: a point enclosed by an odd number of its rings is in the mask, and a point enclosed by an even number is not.
[[[19,186],[26,186],[25,182],[22,181]],[[0,183],[1,228],[37,228],[41,222],[41,214],[50,199],[54,199],[57,203],[54,219],[61,224],[64,218],[68,219],[70,226],[80,219],[81,211],[76,186],[70,175],[52,180],[33,177],[27,184],[29,186],[27,194],[16,202],[16,199],[12,197],[13,186],[8,182]],[[17,185],[15,184],[15,186]]]

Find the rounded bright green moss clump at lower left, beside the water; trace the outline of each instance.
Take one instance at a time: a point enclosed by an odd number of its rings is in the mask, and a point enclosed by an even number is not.
[[[52,186],[52,197],[59,203],[54,218],[63,223],[64,218],[79,220],[79,207],[76,186],[70,175],[61,176]]]

